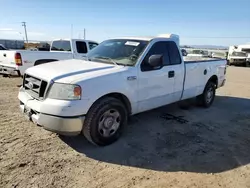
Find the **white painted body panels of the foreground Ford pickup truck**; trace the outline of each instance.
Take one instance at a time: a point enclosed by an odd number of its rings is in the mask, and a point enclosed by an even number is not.
[[[200,95],[213,75],[219,79],[218,87],[221,86],[225,79],[225,60],[185,64],[182,59],[182,63],[179,65],[164,66],[159,70],[142,72],[140,65],[143,58],[151,46],[158,41],[176,42],[172,38],[153,38],[133,67],[93,61],[65,60],[35,66],[26,71],[48,83],[53,81],[81,86],[81,100],[66,101],[45,98],[43,101],[29,101],[28,94],[22,89],[18,98],[28,107],[41,113],[78,116],[87,114],[92,104],[100,97],[110,93],[120,93],[130,101],[132,114],[137,114]],[[181,54],[180,49],[179,53]],[[207,70],[206,75],[204,75],[205,69]],[[173,78],[168,77],[169,71],[175,71]]]

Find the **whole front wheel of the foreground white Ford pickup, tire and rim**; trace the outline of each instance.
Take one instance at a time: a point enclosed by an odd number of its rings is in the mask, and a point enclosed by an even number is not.
[[[115,142],[127,124],[127,110],[116,98],[106,97],[90,108],[83,126],[83,134],[95,145],[106,146]]]

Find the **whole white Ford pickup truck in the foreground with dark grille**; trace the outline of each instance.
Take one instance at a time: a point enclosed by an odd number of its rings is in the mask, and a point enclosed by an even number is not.
[[[225,83],[226,60],[184,61],[173,34],[106,40],[87,56],[29,68],[21,112],[46,130],[83,133],[104,146],[119,138],[128,116],[193,97],[209,107]]]

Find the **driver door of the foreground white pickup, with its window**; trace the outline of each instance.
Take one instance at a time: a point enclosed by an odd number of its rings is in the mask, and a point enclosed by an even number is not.
[[[151,55],[163,55],[161,67],[151,67]],[[138,111],[146,111],[173,102],[175,75],[170,64],[167,41],[155,42],[138,72]]]

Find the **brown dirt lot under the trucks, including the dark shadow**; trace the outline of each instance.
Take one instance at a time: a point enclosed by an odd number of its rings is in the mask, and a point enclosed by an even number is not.
[[[250,187],[250,69],[230,67],[227,79],[211,108],[139,114],[118,142],[100,148],[27,122],[21,80],[1,77],[0,187]]]

